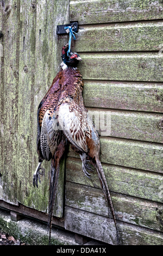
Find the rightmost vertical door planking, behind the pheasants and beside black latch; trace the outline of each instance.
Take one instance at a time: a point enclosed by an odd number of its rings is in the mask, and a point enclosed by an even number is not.
[[[56,34],[57,25],[69,22],[69,1],[45,1],[37,2],[36,15],[36,53],[35,53],[35,88],[34,88],[34,111],[33,111],[33,163],[32,169],[35,170],[38,162],[36,154],[36,134],[37,134],[37,107],[51,86],[53,78],[59,71],[61,62],[61,47],[67,42],[66,36]],[[39,190],[33,190],[33,204],[35,209],[46,210],[48,204],[48,170],[50,164],[46,161],[42,163],[45,168],[45,177],[42,183],[39,184]],[[63,189],[64,189],[64,166],[60,172],[57,201],[55,202],[54,215],[62,216],[63,204]],[[61,178],[62,177],[62,178]],[[42,194],[42,196],[41,196]],[[40,198],[41,196],[41,198]],[[43,206],[39,206],[39,201],[42,201]]]

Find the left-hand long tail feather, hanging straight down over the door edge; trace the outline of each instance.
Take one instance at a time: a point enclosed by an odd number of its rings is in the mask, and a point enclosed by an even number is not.
[[[50,182],[49,182],[49,218],[48,218],[48,230],[49,230],[49,245],[51,244],[51,230],[53,222],[53,210],[54,202],[57,192],[57,184],[59,177],[59,166],[57,169],[54,168],[53,160],[51,162]]]

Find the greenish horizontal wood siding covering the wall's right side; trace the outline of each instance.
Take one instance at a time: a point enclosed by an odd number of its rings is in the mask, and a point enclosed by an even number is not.
[[[162,10],[162,1],[70,1],[70,21],[79,22],[72,48],[82,57],[84,102],[99,131],[123,245],[163,245]],[[70,149],[65,227],[114,245],[95,170],[90,177]]]

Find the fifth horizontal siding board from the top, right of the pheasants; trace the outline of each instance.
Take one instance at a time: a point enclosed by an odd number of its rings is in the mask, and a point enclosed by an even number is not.
[[[87,109],[101,136],[163,143],[163,114]]]

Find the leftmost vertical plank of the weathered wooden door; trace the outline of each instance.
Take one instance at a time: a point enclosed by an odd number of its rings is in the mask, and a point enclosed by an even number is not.
[[[20,1],[3,3],[4,127],[3,199],[17,204],[17,99],[19,70]]]

